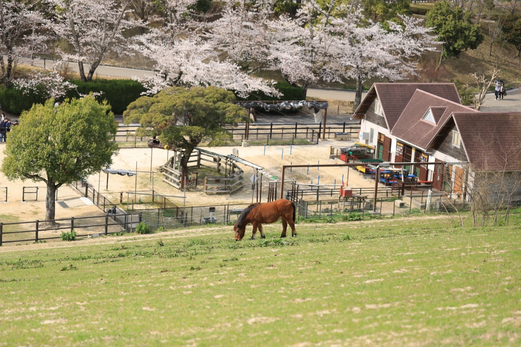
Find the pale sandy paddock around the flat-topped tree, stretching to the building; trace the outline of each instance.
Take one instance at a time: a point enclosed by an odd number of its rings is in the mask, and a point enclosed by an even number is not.
[[[342,164],[339,159],[329,159],[330,147],[345,147],[350,142],[346,141],[324,141],[319,145],[300,145],[300,146],[251,146],[251,147],[235,147],[239,151],[239,157],[258,166],[262,166],[265,172],[270,176],[278,179],[282,175],[282,165],[290,164]],[[209,151],[213,151],[222,155],[232,154],[233,147],[207,147]],[[291,154],[290,154],[291,153]],[[250,178],[254,175],[255,170],[247,165],[239,163],[244,171],[243,188],[232,195],[228,194],[204,194],[202,189],[202,179],[196,189],[188,188],[186,192],[180,191],[162,181],[162,177],[156,170],[160,165],[167,161],[167,157],[172,156],[172,151],[162,149],[121,149],[118,156],[114,158],[112,169],[132,170],[138,168],[138,175],[133,177],[107,175],[93,175],[88,177],[88,181],[95,187],[99,187],[101,194],[114,202],[120,201],[120,192],[123,192],[122,201],[127,201],[126,191],[133,192],[142,191],[142,195],[138,195],[136,200],[144,199],[145,194],[151,194],[154,189],[155,194],[169,196],[169,200],[182,205],[184,195],[186,194],[185,203],[188,206],[211,205],[211,204],[232,204],[251,202],[252,197],[256,201],[257,188],[252,191]],[[151,170],[152,169],[152,170]],[[154,172],[153,174],[150,171]],[[348,172],[349,171],[349,172]],[[349,175],[349,177],[348,177]],[[346,167],[335,168],[299,168],[286,170],[284,180],[287,182],[286,189],[290,189],[291,181],[295,180],[300,184],[317,184],[334,185],[340,188],[342,182],[348,184],[349,187],[374,187],[374,181],[362,178],[362,176]],[[262,195],[261,201],[267,201],[268,179],[263,178],[262,188],[259,186],[259,195]],[[259,178],[260,183],[260,178]],[[107,189],[108,187],[108,189]],[[277,190],[277,197],[280,194],[280,184]],[[129,195],[131,200],[133,195]]]

